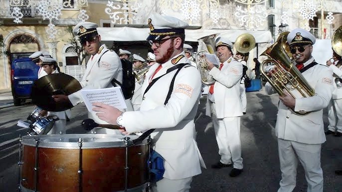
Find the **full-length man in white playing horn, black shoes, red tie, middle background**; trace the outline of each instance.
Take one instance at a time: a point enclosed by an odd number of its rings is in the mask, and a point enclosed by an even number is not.
[[[240,141],[242,64],[233,58],[232,50],[233,44],[228,39],[216,39],[216,52],[221,64],[216,68],[207,61],[209,74],[216,80],[209,87],[207,110],[211,110],[218,154],[221,156],[220,161],[211,165],[211,168],[233,166],[229,176],[236,177],[243,171]]]

